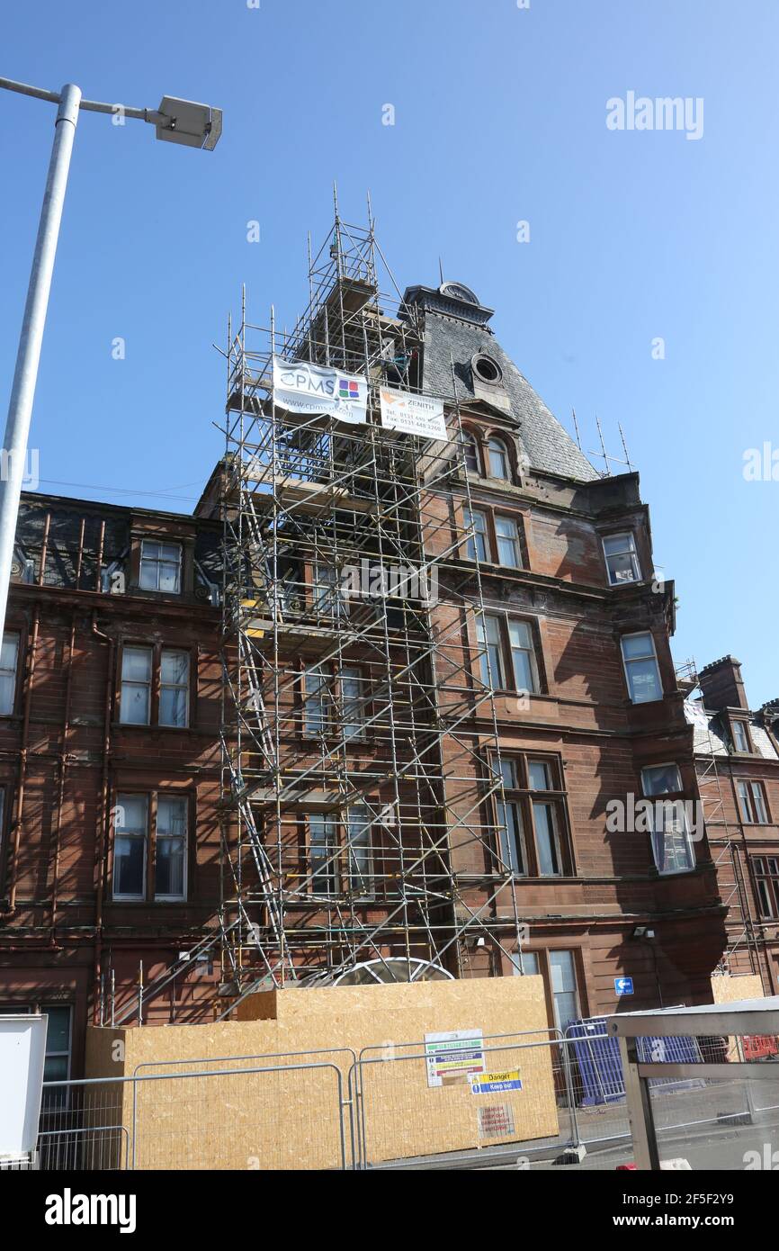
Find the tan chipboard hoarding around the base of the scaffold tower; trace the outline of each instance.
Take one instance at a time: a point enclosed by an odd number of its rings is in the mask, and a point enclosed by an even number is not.
[[[340,1163],[339,1085],[351,1057],[340,1048],[376,1048],[363,1065],[363,1110],[370,1162],[465,1150],[495,1141],[555,1136],[556,1100],[549,1047],[519,1048],[516,1035],[546,1032],[540,977],[423,982],[413,986],[266,991],[241,1005],[259,1020],[144,1030],[93,1030],[90,1076],[118,1076],[111,1041],[124,1043],[123,1070],[195,1072],[236,1067],[261,1073],[168,1078],[138,1087],[136,1167],[333,1168]],[[430,1087],[419,1043],[425,1033],[481,1030],[488,1072],[519,1071],[523,1090],[471,1095],[468,1082]],[[95,1038],[94,1036],[101,1036]],[[404,1043],[406,1046],[404,1046]],[[294,1058],[290,1052],[329,1052]],[[284,1058],[284,1055],[288,1058]],[[211,1057],[206,1065],[193,1061]],[[406,1058],[403,1058],[406,1057]],[[311,1065],[294,1072],[280,1065]],[[131,1125],[125,1093],[124,1123]],[[509,1110],[509,1132],[483,1137],[479,1107]],[[128,1120],[129,1117],[129,1120]],[[510,1125],[513,1122],[513,1130]],[[504,1123],[505,1128],[505,1123]]]

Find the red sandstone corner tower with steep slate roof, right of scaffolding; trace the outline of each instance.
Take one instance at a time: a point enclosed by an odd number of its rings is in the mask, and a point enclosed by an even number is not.
[[[510,894],[528,927],[521,956],[483,947],[471,971],[543,973],[558,1027],[704,1002],[723,907],[705,831],[684,809],[654,819],[658,799],[689,806],[695,771],[670,654],[674,585],[653,572],[638,474],[593,470],[473,293],[409,294],[424,308],[423,390],[441,393],[454,359],[465,474],[439,502],[448,527],[433,542],[459,534],[449,575],[470,572],[475,594],[478,568],[481,583],[483,622],[466,647],[473,682],[495,698],[475,709],[473,733],[488,738],[494,713],[504,793],[486,819],[513,869],[493,911],[504,948]],[[463,906],[478,911],[484,848],[453,854]]]

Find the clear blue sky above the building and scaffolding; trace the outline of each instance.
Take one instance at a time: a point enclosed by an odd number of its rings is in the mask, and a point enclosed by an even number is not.
[[[676,579],[676,659],[733,652],[753,706],[779,696],[779,482],[741,472],[745,449],[779,448],[775,0],[38,0],[3,28],[6,76],[224,109],[214,153],[81,114],[33,422],[43,490],[190,510],[223,450],[211,344],[241,281],[256,320],[274,300],[291,322],[333,180],[350,220],[370,188],[400,285],[434,284],[441,254],[588,447],[595,413],[614,452],[621,422]],[[629,90],[703,98],[703,138],[608,130]],[[5,405],[54,106],[0,109]]]

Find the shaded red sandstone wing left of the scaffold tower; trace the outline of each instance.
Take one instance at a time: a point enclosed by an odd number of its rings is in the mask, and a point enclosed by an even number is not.
[[[78,1075],[85,1026],[120,1017],[213,923],[220,542],[194,517],[21,503],[1,662],[0,1007],[49,1012],[51,1078]],[[185,970],[146,1018],[195,1018],[208,982],[208,966]]]

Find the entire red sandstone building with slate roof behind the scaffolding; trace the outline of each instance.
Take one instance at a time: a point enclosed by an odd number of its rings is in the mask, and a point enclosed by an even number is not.
[[[375,293],[358,286],[349,291],[363,301],[358,311],[385,330]],[[390,607],[360,633],[361,609],[344,615],[294,512],[299,479],[274,479],[259,500],[259,530],[288,543],[286,563],[274,565],[288,583],[284,612],[256,573],[241,573],[249,592],[235,593],[234,607],[265,614],[246,632],[258,664],[271,677],[286,664],[271,727],[283,758],[273,768],[253,748],[231,754],[235,723],[223,712],[220,609],[225,587],[228,603],[231,593],[215,492],[226,492],[230,528],[234,464],[224,463],[191,517],[24,499],[0,664],[0,1006],[50,1012],[49,1076],[78,1073],[86,1023],[131,1012],[139,985],[155,987],[144,1022],[210,1018],[230,971],[214,947],[203,960],[181,953],[230,914],[245,913],[264,942],[278,937],[281,913],[289,918],[280,956],[263,956],[270,977],[275,961],[293,973],[326,970],[334,952],[341,966],[413,956],[459,977],[539,972],[559,1027],[620,1002],[710,998],[726,943],[708,839],[694,841],[684,822],[646,832],[631,816],[641,798],[696,794],[693,728],[670,656],[673,583],[653,575],[638,475],[593,469],[490,319],[459,284],[406,291],[391,322],[404,353],[388,364],[381,347],[368,372],[396,384],[401,370],[404,385],[449,397],[451,438],[416,468],[413,458],[410,469],[393,468],[394,512],[386,477],[383,495],[374,477],[368,507],[363,462],[349,498],[329,488],[329,528],[305,505],[326,530],[320,547],[338,534],[353,550],[375,527],[374,555],[391,514],[393,542],[406,535],[414,560],[436,569],[426,622],[416,608]],[[388,464],[400,455],[398,440],[370,439]],[[368,435],[354,440],[359,455],[368,445]],[[400,523],[403,474],[425,508],[404,503]],[[338,656],[323,662],[333,636]],[[405,673],[414,681],[403,686]],[[254,712],[273,684],[259,681]],[[334,746],[336,707],[349,731]],[[235,863],[225,844],[241,836],[235,812],[220,808],[223,728],[226,772],[238,759],[240,784],[255,778],[241,819],[256,824],[258,846],[279,848],[268,868],[275,884],[248,894],[250,907],[225,886]],[[323,806],[321,787],[314,801],[294,789],[315,761],[321,784],[333,782],[325,794],[349,791],[340,808],[335,798],[331,811]],[[749,762],[739,767],[749,773]],[[611,832],[614,801],[625,819]],[[389,809],[390,819],[375,816]],[[434,856],[423,856],[425,839]],[[769,844],[753,839],[749,854],[755,882],[769,883],[758,887],[760,906],[779,904]],[[236,977],[243,963],[244,953]],[[263,973],[259,957],[254,972]],[[621,978],[634,986],[623,1001]]]

